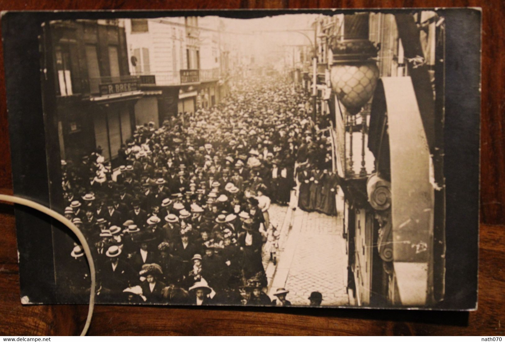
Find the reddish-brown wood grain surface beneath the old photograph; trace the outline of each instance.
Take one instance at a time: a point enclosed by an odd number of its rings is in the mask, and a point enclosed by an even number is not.
[[[342,334],[488,335],[505,333],[505,2],[503,0],[0,0],[1,10],[482,7],[481,226],[479,308],[474,312],[360,309],[207,310],[98,306],[91,335]],[[3,52],[0,53],[0,193],[12,194]],[[0,203],[0,335],[77,334],[87,307],[23,306],[13,207]],[[36,281],[36,279],[33,279]]]

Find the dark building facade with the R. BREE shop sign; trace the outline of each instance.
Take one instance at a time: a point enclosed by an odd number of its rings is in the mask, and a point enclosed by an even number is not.
[[[56,98],[62,159],[98,148],[114,163],[131,137],[134,106],[143,96],[138,77],[129,73],[122,20],[45,23],[44,48],[43,91]]]

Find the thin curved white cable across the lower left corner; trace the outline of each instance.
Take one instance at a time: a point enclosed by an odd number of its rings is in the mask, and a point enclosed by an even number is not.
[[[93,258],[91,257],[91,250],[89,249],[88,243],[86,242],[84,235],[82,235],[81,231],[68,218],[66,218],[62,214],[59,214],[58,212],[54,211],[53,209],[49,209],[46,206],[38,204],[37,202],[30,201],[30,200],[22,198],[22,197],[3,195],[3,194],[0,194],[0,201],[21,204],[21,205],[25,205],[27,207],[33,208],[35,210],[41,211],[44,214],[47,214],[47,215],[53,217],[54,219],[62,222],[63,224],[65,224],[77,236],[77,239],[79,239],[79,242],[81,243],[82,248],[84,249],[84,253],[86,254],[86,258],[88,259],[89,271],[91,274],[91,288],[89,289],[88,316],[86,318],[86,324],[84,324],[84,328],[82,329],[82,332],[81,332],[81,336],[86,335],[86,332],[89,329],[89,324],[91,323],[91,318],[93,317],[95,286],[96,286],[95,277],[96,276],[95,276],[95,267],[94,267],[94,263],[93,263]]]

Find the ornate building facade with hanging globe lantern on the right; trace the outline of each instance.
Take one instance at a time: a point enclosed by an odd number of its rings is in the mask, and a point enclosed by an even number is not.
[[[321,17],[316,34],[318,115],[333,123],[350,303],[436,306],[445,267],[443,18]]]

